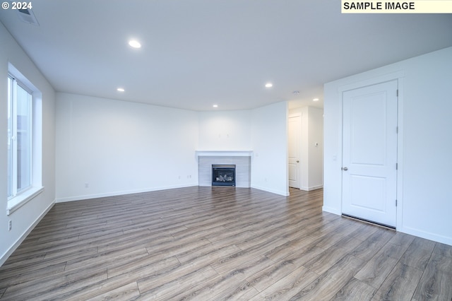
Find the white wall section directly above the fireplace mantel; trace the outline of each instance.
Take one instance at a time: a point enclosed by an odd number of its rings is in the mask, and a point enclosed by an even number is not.
[[[198,112],[198,116],[199,150],[251,150],[251,111]]]

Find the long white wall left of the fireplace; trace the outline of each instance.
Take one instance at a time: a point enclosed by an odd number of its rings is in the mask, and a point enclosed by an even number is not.
[[[194,186],[196,112],[57,93],[57,201]]]

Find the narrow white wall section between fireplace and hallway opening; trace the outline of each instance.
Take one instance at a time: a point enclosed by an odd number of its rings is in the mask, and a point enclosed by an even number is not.
[[[287,174],[287,103],[278,102],[252,111],[251,187],[289,195]]]

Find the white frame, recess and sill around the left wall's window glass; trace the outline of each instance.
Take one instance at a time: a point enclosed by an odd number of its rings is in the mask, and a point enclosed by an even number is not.
[[[44,191],[44,187],[42,187],[42,93],[12,64],[8,64],[8,77],[11,77],[14,81],[16,81],[13,85],[20,85],[21,88],[26,90],[31,95],[30,186],[17,191],[17,167],[13,166],[16,170],[13,171],[13,177],[11,180],[13,181],[13,185],[16,187],[13,187],[13,193],[10,197],[8,197],[8,205],[6,207],[6,214],[10,215]],[[8,86],[8,90],[9,89],[10,87]],[[13,97],[15,97],[15,95],[13,95]],[[16,125],[13,127],[16,127]],[[8,139],[10,138],[11,137],[8,134]],[[16,149],[13,148],[13,153],[14,151],[16,151]],[[16,160],[13,160],[13,162],[15,161]]]

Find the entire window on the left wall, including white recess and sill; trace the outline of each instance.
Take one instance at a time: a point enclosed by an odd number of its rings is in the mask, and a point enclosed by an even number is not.
[[[9,215],[40,194],[42,187],[42,93],[8,64]]]

